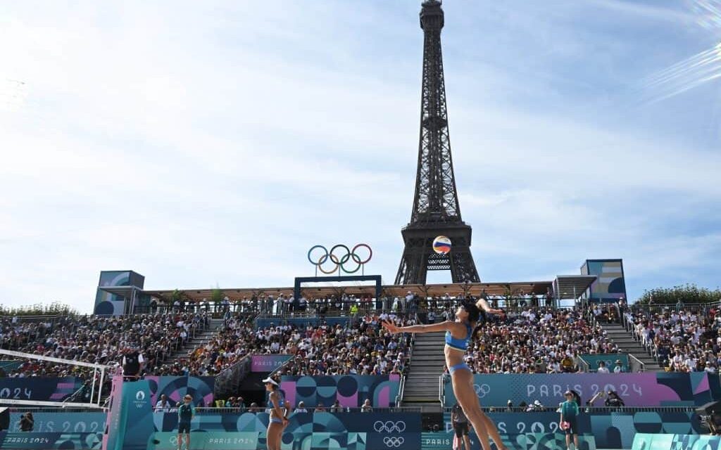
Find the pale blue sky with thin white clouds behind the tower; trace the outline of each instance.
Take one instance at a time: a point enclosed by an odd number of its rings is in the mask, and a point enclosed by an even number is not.
[[[717,287],[714,6],[444,3],[456,183],[483,281],[623,258],[631,299]],[[6,4],[0,303],[89,311],[102,269],[149,288],[286,286],[313,274],[316,243],[369,243],[366,273],[392,282],[415,183],[419,10]]]

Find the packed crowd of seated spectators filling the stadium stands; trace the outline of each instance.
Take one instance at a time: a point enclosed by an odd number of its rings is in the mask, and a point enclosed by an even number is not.
[[[277,307],[278,300],[271,300]],[[409,364],[411,337],[386,333],[381,321],[409,325],[454,320],[456,305],[463,299],[446,295],[423,300],[409,293],[407,298],[389,302],[391,310],[402,312],[379,313],[368,311],[370,305],[361,299],[355,299],[348,308],[343,306],[345,299],[338,300],[338,305],[326,299],[304,301],[298,307],[347,309],[351,320],[345,325],[320,320],[316,325],[296,326],[279,320],[279,325],[256,328],[252,315],[229,308],[224,326],[215,335],[177,359],[172,359],[172,354],[187,348],[190,338],[208,328],[209,312],[77,316],[53,322],[5,317],[0,318],[0,348],[105,365],[121,365],[125,359],[136,357],[138,376],[214,376],[250,354],[293,355],[280,372],[288,375],[403,373]],[[294,302],[292,298],[281,301],[288,305]],[[715,373],[721,364],[721,310],[668,307],[650,312],[625,305],[596,306],[584,317],[578,309],[544,308],[534,303],[536,299],[531,298],[525,307],[519,303],[503,318],[490,318],[479,325],[466,354],[474,372],[582,372],[581,355],[622,351],[599,325],[605,322],[627,325],[669,371]],[[244,309],[244,303],[240,308]],[[6,373],[2,371],[0,368],[0,375],[9,377],[88,379],[92,374],[92,369],[37,360],[22,361]]]

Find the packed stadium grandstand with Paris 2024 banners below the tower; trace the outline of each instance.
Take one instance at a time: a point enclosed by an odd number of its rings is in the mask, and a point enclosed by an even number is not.
[[[296,411],[285,432],[291,441],[325,436],[350,448],[354,438],[371,449],[394,437],[402,449],[449,448],[456,399],[442,336],[391,335],[381,323],[454,320],[459,305],[481,297],[505,315],[479,324],[464,359],[508,448],[527,448],[529,436],[545,439],[543,448],[562,448],[557,408],[567,389],[583,407],[584,449],[630,449],[650,429],[644,414],[652,412],[655,433],[713,429],[713,411],[699,408],[721,397],[720,305],[629,307],[618,292],[598,301],[595,289],[608,295],[608,288],[588,275],[383,287],[379,298],[373,289],[311,287],[298,299],[287,288],[221,289],[219,301],[208,301],[217,292],[188,289],[180,297],[176,290],[99,287],[96,305],[118,302],[128,313],[2,317],[6,436],[23,433],[30,412],[33,433],[62,439],[53,433],[77,431],[92,448],[108,441],[103,430],[120,415],[125,429],[110,438],[114,448],[171,449],[180,399],[190,394],[198,411],[193,431],[203,431],[193,433],[203,438],[193,448],[222,439],[262,448],[262,379],[271,376]],[[142,414],[124,415],[130,406]],[[331,416],[340,422],[332,425]],[[326,431],[309,434],[308,423]],[[376,423],[406,428],[374,430]]]

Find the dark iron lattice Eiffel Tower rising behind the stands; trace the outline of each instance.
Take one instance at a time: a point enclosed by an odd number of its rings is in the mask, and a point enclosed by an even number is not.
[[[429,270],[450,270],[454,283],[480,282],[471,254],[471,227],[461,219],[451,159],[443,81],[441,1],[426,0],[420,11],[423,29],[423,87],[415,198],[410,223],[402,230],[405,248],[396,284],[425,284]],[[451,239],[451,253],[433,251],[433,239]]]

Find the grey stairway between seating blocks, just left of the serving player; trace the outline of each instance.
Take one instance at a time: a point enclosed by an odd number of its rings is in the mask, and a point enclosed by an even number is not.
[[[413,341],[411,364],[403,389],[403,406],[416,406],[423,410],[440,408],[438,378],[446,364],[443,356],[443,332],[416,334]]]

